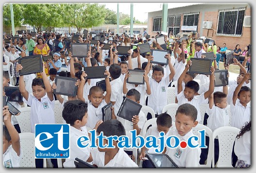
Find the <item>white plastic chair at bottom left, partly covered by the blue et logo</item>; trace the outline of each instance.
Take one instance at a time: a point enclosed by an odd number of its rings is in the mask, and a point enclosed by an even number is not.
[[[35,168],[35,134],[19,133],[20,147],[22,149],[22,158],[19,162],[20,168]],[[46,160],[44,168],[46,168]]]

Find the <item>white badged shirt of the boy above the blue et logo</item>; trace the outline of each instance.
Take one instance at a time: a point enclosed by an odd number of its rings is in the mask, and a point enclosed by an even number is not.
[[[41,98],[41,102],[35,96],[29,94],[28,101],[23,97],[23,102],[31,106],[30,124],[31,133],[35,133],[35,124],[55,124],[54,102],[50,101],[47,94]]]

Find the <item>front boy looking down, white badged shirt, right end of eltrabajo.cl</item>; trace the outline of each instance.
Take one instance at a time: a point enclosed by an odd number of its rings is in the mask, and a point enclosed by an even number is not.
[[[187,142],[188,138],[194,136],[192,128],[196,127],[198,121],[196,107],[190,104],[183,104],[178,107],[175,116],[175,126],[169,136],[177,136],[180,141]],[[192,145],[199,145],[197,141],[192,139]],[[175,140],[171,140],[171,146],[174,146]],[[200,148],[166,148],[166,154],[178,165],[180,168],[195,168],[198,167],[200,160]]]

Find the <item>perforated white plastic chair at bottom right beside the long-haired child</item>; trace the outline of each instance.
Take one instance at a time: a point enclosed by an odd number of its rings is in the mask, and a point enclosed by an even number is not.
[[[219,159],[215,167],[218,168],[233,168],[232,166],[232,149],[237,134],[240,129],[235,127],[220,127],[212,133],[212,145],[214,146],[214,139],[218,136],[219,139]],[[214,153],[214,147],[212,147]],[[212,163],[214,163],[214,154],[212,155]],[[214,168],[214,167],[213,167]]]

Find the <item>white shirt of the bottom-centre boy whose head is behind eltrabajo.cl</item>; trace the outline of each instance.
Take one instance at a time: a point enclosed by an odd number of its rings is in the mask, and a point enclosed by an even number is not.
[[[98,148],[93,148],[91,156],[98,168],[138,168],[138,165],[124,152],[123,148],[119,148],[118,153],[106,165],[105,152],[100,152]]]

